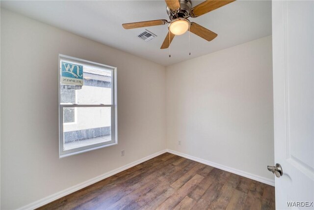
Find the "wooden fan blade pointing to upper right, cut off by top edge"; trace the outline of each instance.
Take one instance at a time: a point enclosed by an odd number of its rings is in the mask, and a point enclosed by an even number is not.
[[[190,16],[196,18],[235,0],[206,0],[190,10]]]

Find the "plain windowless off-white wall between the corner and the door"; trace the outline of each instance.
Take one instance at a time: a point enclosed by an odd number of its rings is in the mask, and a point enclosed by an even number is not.
[[[166,70],[167,148],[273,180],[271,36]]]

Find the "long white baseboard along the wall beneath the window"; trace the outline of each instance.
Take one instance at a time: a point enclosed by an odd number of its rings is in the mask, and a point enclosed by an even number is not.
[[[142,158],[140,160],[131,162],[131,163],[125,165],[125,166],[122,166],[122,167],[117,168],[115,170],[109,171],[109,172],[107,172],[107,173],[105,173],[103,175],[100,175],[100,176],[95,177],[93,179],[84,181],[82,183],[79,183],[79,184],[77,184],[75,186],[72,186],[70,188],[62,190],[60,192],[54,193],[51,196],[43,198],[43,199],[41,199],[39,201],[35,201],[35,202],[31,203],[31,204],[28,204],[28,205],[26,205],[24,207],[21,207],[19,210],[33,210],[33,209],[36,209],[36,208],[41,207],[41,206],[43,206],[45,204],[48,204],[48,203],[50,203],[52,201],[55,201],[55,200],[57,200],[59,198],[62,198],[63,196],[66,196],[66,195],[69,195],[69,194],[71,194],[71,193],[73,193],[75,191],[78,191],[78,190],[80,190],[80,189],[82,189],[82,188],[84,188],[84,187],[86,187],[88,185],[96,183],[96,182],[98,182],[100,180],[104,180],[104,179],[106,179],[106,178],[108,178],[110,176],[113,176],[113,175],[118,174],[118,173],[120,173],[120,172],[122,172],[124,170],[127,170],[127,169],[129,169],[129,168],[131,168],[133,166],[136,166],[136,165],[138,165],[138,164],[140,164],[142,162],[145,162],[145,161],[147,161],[149,159],[157,157],[158,155],[163,154],[165,152],[167,152],[167,150],[161,150],[161,151],[159,151],[159,152],[157,152],[155,154],[148,155],[148,156],[146,156],[146,157],[144,157],[144,158]]]

